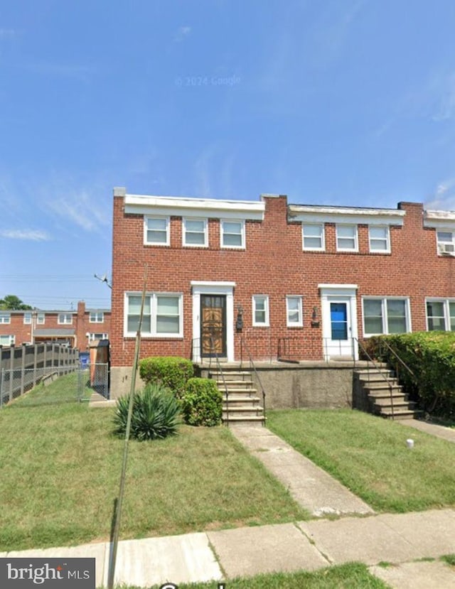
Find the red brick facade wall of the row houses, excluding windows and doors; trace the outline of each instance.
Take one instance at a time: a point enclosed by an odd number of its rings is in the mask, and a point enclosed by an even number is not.
[[[301,223],[287,221],[287,198],[265,198],[263,222],[246,222],[245,250],[220,249],[218,220],[209,220],[209,247],[183,248],[181,218],[171,217],[170,247],[144,247],[143,217],[126,215],[124,199],[114,198],[112,328],[113,366],[132,364],[134,338],[123,337],[124,292],[183,293],[183,339],[144,338],[141,357],[191,354],[191,281],[235,281],[235,308],[244,309],[244,329],[252,354],[276,357],[279,337],[299,337],[301,357],[322,357],[322,330],[311,328],[316,306],[321,319],[319,283],[358,285],[358,330],[362,337],[361,296],[409,296],[412,330],[425,330],[425,296],[455,296],[454,258],[437,256],[434,229],[422,225],[422,205],[400,203],[403,227],[390,228],[391,254],[370,254],[368,226],[358,226],[359,252],[336,252],[335,225],[326,224],[326,252],[302,251]],[[252,327],[252,295],[269,296],[269,328]],[[287,328],[286,295],[303,296],[304,327]],[[235,320],[235,318],[234,318]],[[235,356],[240,336],[235,334]]]

